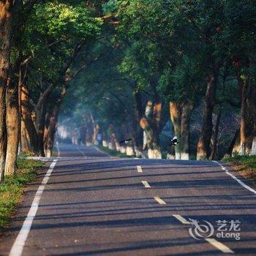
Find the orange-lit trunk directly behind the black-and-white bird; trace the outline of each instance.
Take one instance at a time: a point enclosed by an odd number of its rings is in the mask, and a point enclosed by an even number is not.
[[[175,146],[175,159],[181,159],[181,106],[177,102],[169,102],[169,105],[174,135],[178,140],[178,144]]]

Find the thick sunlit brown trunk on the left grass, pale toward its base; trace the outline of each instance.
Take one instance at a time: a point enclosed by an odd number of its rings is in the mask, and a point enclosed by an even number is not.
[[[7,105],[7,155],[5,175],[12,175],[17,170],[18,143],[20,138],[20,111],[18,104],[18,83],[9,80],[6,91]]]

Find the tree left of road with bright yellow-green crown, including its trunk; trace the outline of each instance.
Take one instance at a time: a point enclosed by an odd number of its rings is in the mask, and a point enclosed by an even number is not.
[[[95,37],[99,32],[101,21],[91,18],[89,11],[80,4],[59,4],[57,1],[37,6],[31,13],[31,26],[26,29],[26,43],[28,50],[26,55],[32,56],[36,49],[36,58],[31,59],[29,67],[28,82],[31,86],[30,91],[34,91],[35,97],[30,97],[30,102],[36,113],[35,129],[30,129],[31,122],[27,127],[29,132],[37,131],[38,148],[37,152],[45,155],[44,141],[48,139],[48,146],[53,145],[55,130],[54,125],[50,124],[48,130],[50,137],[45,138],[45,116],[48,118],[53,113],[57,120],[59,105],[67,91],[68,83],[71,79],[70,69],[72,63],[78,56],[85,43]],[[37,37],[34,35],[37,34]],[[50,72],[49,72],[50,70]],[[36,81],[36,83],[33,83]],[[34,89],[37,85],[37,90]],[[56,95],[55,110],[47,113],[48,99],[53,90],[59,91]],[[26,122],[28,123],[28,122]],[[54,127],[54,128],[52,128]],[[53,129],[53,130],[52,130]],[[48,135],[47,135],[48,136]],[[30,136],[31,138],[34,136]],[[50,148],[47,149],[48,152]]]

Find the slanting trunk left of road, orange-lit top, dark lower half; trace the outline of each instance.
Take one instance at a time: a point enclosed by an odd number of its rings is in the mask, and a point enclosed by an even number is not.
[[[31,112],[29,110],[29,91],[24,83],[20,92],[20,102],[21,102],[21,117],[24,121],[26,131],[29,135],[29,142],[32,148],[33,153],[38,155],[38,138],[37,138],[37,130],[34,127],[34,122],[31,118]]]

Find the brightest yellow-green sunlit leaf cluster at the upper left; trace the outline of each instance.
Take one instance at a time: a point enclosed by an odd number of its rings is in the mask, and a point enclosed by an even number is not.
[[[77,42],[78,39],[99,34],[102,20],[90,17],[84,4],[70,5],[52,1],[34,7],[28,31],[44,39],[58,39],[61,42]]]

